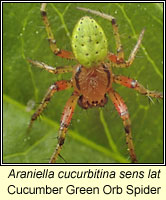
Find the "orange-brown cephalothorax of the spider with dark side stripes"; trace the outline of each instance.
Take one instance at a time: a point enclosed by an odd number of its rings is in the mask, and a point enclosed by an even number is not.
[[[107,103],[106,93],[112,86],[112,74],[109,65],[101,63],[97,67],[76,67],[73,74],[73,87],[80,95],[78,104],[88,109],[103,107]]]

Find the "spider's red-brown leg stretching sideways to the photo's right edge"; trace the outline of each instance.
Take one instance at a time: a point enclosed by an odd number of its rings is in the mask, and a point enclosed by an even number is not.
[[[113,82],[137,90],[140,94],[146,95],[147,97],[163,98],[163,94],[161,92],[150,91],[136,80],[126,76],[113,75]]]

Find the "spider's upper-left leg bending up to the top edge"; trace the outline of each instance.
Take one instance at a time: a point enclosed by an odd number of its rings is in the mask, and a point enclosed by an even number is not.
[[[41,4],[40,12],[41,12],[42,19],[43,19],[43,22],[44,22],[45,27],[46,27],[46,32],[47,32],[47,35],[48,35],[48,40],[49,40],[50,48],[51,48],[52,52],[55,55],[60,56],[62,58],[74,59],[72,52],[66,51],[66,50],[60,50],[57,47],[56,40],[54,39],[54,35],[52,33],[50,23],[48,21],[47,12],[46,12],[46,5],[47,5],[46,3]]]

